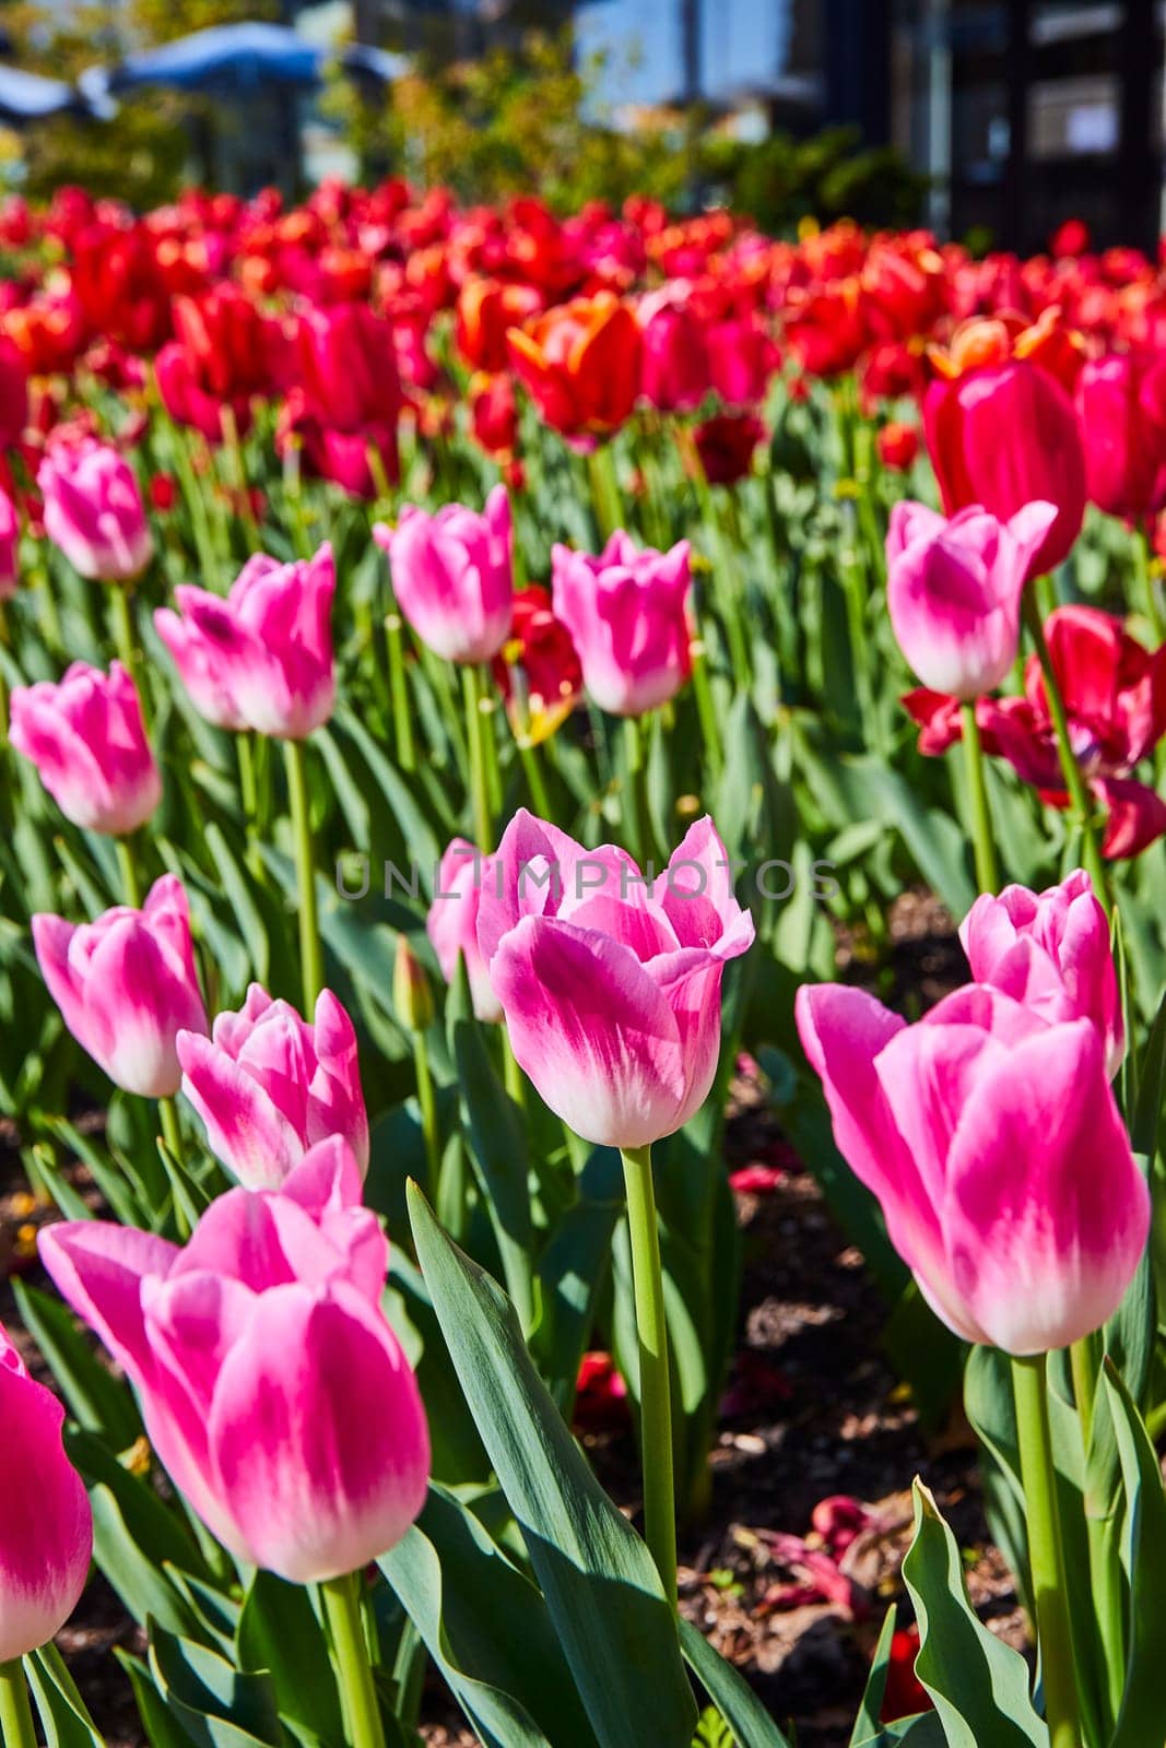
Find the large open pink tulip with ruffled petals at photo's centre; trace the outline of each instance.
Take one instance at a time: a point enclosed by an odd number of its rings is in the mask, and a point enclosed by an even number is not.
[[[720,977],[753,939],[711,820],[649,883],[519,811],[482,886],[477,942],[510,1045],[545,1103],[601,1147],[671,1134],[708,1096]]]

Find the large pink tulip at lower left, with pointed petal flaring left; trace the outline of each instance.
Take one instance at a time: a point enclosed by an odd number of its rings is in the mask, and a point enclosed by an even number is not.
[[[45,1227],[40,1255],[238,1559],[315,1584],[400,1540],[425,1500],[428,1433],[381,1311],[388,1245],[339,1138],[281,1192],[220,1196],[185,1248],[75,1220]]]

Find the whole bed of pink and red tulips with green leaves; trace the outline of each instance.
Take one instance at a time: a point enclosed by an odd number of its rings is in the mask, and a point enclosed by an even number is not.
[[[1159,269],[397,184],[17,220],[68,295],[0,299],[0,1106],[63,1402],[0,1334],[3,1748],[101,1743],[93,1561],[157,1748],[413,1748],[430,1671],[493,1748],[788,1748],[678,1559],[738,1065],[911,1398],[963,1379],[1035,1652],[918,1481],[855,1748],[1154,1748]]]

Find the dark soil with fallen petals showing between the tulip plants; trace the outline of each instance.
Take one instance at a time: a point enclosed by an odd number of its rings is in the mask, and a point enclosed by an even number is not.
[[[865,981],[864,961],[864,944],[843,937],[841,975]],[[967,975],[951,923],[932,898],[904,895],[895,905],[890,974],[892,1000],[907,1009],[928,1005]],[[942,1433],[925,1437],[883,1356],[885,1306],[862,1257],[781,1140],[748,1063],[734,1084],[725,1150],[734,1175],[760,1168],[766,1183],[738,1196],[739,1346],[711,1453],[710,1510],[682,1535],[682,1610],[771,1713],[795,1727],[799,1748],[844,1748],[886,1605],[902,1598],[899,1564],[916,1474],[965,1549],[982,1619],[1014,1645],[1024,1643],[1024,1622],[988,1538],[967,1423],[953,1407]],[[73,1180],[86,1189],[84,1168]],[[38,1276],[33,1245],[42,1218],[14,1134],[0,1126],[0,1320],[47,1379],[17,1325],[9,1285],[12,1273]],[[601,1419],[580,1428],[584,1444],[614,1498],[635,1510],[636,1456],[621,1402],[610,1402]],[[846,1536],[832,1535],[829,1523],[825,1535],[811,1523],[815,1507],[839,1495],[865,1509],[834,1507],[834,1517],[850,1514],[853,1540],[844,1549]],[[115,1645],[142,1650],[142,1634],[101,1578],[89,1584],[58,1643],[108,1748],[143,1748],[129,1685],[112,1655]],[[437,1689],[427,1715],[430,1748],[474,1748]]]

